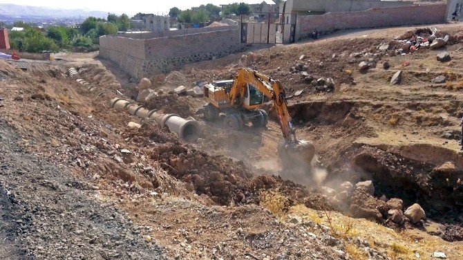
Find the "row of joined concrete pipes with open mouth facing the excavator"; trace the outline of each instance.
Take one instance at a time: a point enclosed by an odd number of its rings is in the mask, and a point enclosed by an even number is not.
[[[180,139],[187,142],[195,141],[200,134],[200,127],[196,120],[186,120],[176,114],[156,113],[154,110],[149,111],[135,102],[123,100],[122,98],[113,98],[111,100],[111,107],[119,110],[128,109],[131,115],[136,115],[139,118],[151,118],[160,127],[168,127],[169,131],[177,133]]]

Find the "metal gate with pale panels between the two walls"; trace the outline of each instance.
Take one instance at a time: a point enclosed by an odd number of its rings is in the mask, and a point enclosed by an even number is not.
[[[282,14],[265,13],[243,19],[241,16],[241,43],[292,44],[296,35],[296,18],[291,23]],[[286,20],[286,21],[285,21]]]

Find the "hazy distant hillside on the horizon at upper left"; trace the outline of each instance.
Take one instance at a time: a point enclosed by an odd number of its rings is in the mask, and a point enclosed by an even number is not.
[[[77,18],[77,17],[108,17],[107,12],[84,9],[55,9],[38,6],[18,6],[10,3],[0,3],[0,16],[8,17],[50,17],[50,18]]]

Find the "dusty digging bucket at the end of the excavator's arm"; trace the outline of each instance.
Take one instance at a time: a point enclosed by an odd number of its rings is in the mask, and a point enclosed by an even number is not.
[[[278,145],[283,178],[296,183],[309,184],[312,182],[311,162],[315,155],[315,147],[312,142],[298,140],[283,142]]]

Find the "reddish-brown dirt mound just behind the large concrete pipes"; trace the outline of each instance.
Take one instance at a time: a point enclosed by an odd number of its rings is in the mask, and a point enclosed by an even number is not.
[[[144,106],[149,110],[159,110],[163,113],[176,113],[182,118],[187,118],[194,113],[188,104],[187,97],[180,97],[177,94],[153,96],[149,101],[144,103]]]

